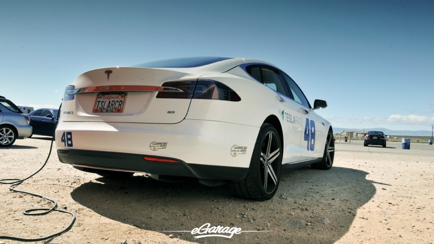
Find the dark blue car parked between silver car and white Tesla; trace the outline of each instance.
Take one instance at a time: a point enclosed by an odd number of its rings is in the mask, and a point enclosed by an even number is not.
[[[29,113],[30,125],[33,127],[32,135],[54,136],[58,111],[58,109],[40,108]]]

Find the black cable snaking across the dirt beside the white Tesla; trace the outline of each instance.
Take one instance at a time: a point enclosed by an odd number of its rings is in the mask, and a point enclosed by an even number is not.
[[[60,108],[59,108],[59,111],[60,111]],[[59,118],[59,114],[58,114],[57,117]],[[56,127],[57,127],[57,125],[56,125]],[[46,240],[46,239],[50,239],[50,238],[53,238],[55,236],[61,235],[61,234],[65,233],[66,231],[68,231],[69,229],[71,229],[73,227],[73,225],[74,225],[74,223],[76,221],[76,215],[73,212],[57,209],[56,208],[57,207],[56,200],[49,199],[47,197],[44,197],[42,195],[35,194],[35,193],[32,193],[32,192],[21,191],[21,190],[15,189],[15,187],[18,186],[19,184],[21,184],[22,182],[24,182],[24,181],[30,179],[31,177],[33,177],[34,175],[38,174],[42,170],[42,168],[46,165],[46,163],[50,159],[51,151],[53,149],[53,141],[54,141],[54,136],[51,139],[50,152],[49,152],[49,154],[48,154],[48,156],[47,156],[47,158],[45,160],[45,163],[42,165],[41,168],[38,169],[37,172],[35,172],[31,176],[27,177],[26,179],[22,179],[22,180],[21,179],[0,179],[0,183],[1,184],[13,184],[13,185],[11,185],[9,187],[10,190],[13,190],[15,192],[20,192],[20,193],[23,193],[23,194],[29,194],[29,195],[32,195],[32,196],[35,196],[35,197],[39,197],[39,198],[44,198],[44,199],[46,199],[46,200],[48,200],[48,201],[50,201],[50,202],[52,202],[54,204],[54,206],[52,208],[27,209],[24,212],[22,212],[23,214],[25,214],[25,215],[44,215],[44,214],[50,213],[52,211],[57,211],[57,212],[63,212],[63,213],[68,213],[68,214],[72,215],[73,218],[71,219],[71,222],[62,231],[57,232],[57,233],[52,234],[52,235],[49,235],[49,236],[45,236],[45,237],[34,238],[34,239],[27,239],[27,238],[13,237],[13,236],[0,236],[0,239],[9,239],[9,240],[17,240],[17,241],[40,241],[40,240]],[[5,182],[5,181],[12,181],[12,182]],[[35,211],[42,211],[42,212],[34,213]]]

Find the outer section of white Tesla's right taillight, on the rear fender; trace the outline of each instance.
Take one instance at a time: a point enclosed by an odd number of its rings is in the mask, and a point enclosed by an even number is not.
[[[212,80],[200,80],[196,85],[193,99],[212,99],[238,102],[241,101],[239,95],[229,88],[229,86]]]

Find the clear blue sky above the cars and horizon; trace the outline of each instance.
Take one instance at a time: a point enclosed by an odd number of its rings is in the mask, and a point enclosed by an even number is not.
[[[0,0],[0,95],[59,107],[82,72],[193,56],[283,69],[334,127],[431,130],[434,1]]]

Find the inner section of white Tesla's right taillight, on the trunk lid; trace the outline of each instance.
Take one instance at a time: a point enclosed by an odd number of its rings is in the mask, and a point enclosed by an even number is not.
[[[165,82],[162,91],[157,93],[157,99],[191,99],[196,81]]]

